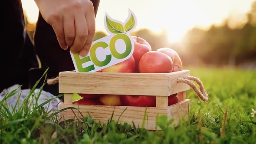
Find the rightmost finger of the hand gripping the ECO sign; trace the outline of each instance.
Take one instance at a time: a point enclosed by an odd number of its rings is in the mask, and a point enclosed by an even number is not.
[[[86,13],[85,15],[87,26],[88,26],[88,36],[85,42],[85,47],[89,51],[92,45],[92,40],[94,38],[95,34],[95,16],[94,16],[94,11],[90,11]]]

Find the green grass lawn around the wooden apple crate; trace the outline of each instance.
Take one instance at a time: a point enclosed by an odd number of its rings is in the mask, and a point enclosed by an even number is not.
[[[10,113],[1,101],[0,143],[256,144],[256,118],[251,117],[252,108],[256,109],[256,71],[190,69],[190,72],[203,81],[210,99],[205,103],[192,90],[187,92],[187,98],[191,99],[190,119],[177,128],[168,127],[172,121],[166,117],[158,118],[163,131],[132,129],[133,125],[112,120],[99,124],[85,117],[66,120],[70,122],[68,125],[59,122],[59,111],[49,114],[36,104],[29,108],[26,100],[19,110]]]

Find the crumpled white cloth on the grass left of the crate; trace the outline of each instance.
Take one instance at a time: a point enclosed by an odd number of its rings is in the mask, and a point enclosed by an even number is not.
[[[15,106],[16,102],[18,101],[19,95],[20,95],[20,99],[19,99],[19,102],[17,103],[16,109],[20,108],[24,99],[30,94],[30,91],[31,91],[30,89],[21,89],[20,85],[16,84],[16,85],[11,86],[10,88],[4,89],[0,93],[0,101],[2,101],[4,96],[9,94],[13,90],[16,90],[15,91],[16,93],[14,95],[12,95],[10,98],[7,98],[7,100],[5,100],[5,103],[7,104],[7,108],[9,108],[10,112],[13,111],[13,107]],[[35,105],[36,97],[39,95],[39,92],[40,92],[40,89],[35,89],[35,91],[33,92],[33,96],[30,97],[30,104],[31,104],[30,107],[32,105]],[[59,110],[58,103],[60,103],[59,98],[56,98],[56,96],[54,96],[53,94],[51,94],[49,92],[45,92],[43,90],[39,96],[37,105],[42,104],[43,102],[49,100],[50,98],[55,98],[55,99],[53,99],[52,101],[50,101],[43,107],[45,108],[46,111],[50,111],[52,109],[53,109],[53,111],[58,111]]]

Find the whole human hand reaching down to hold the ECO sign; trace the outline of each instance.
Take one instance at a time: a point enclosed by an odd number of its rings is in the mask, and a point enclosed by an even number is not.
[[[90,0],[35,0],[43,19],[53,26],[62,49],[86,56],[95,34],[95,13]]]

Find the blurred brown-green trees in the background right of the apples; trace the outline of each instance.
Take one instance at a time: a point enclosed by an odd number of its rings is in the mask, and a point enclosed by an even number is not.
[[[256,60],[256,1],[247,16],[242,28],[231,29],[227,19],[222,26],[213,25],[207,31],[191,29],[185,36],[183,48],[188,54],[184,61],[188,65],[202,61],[206,65],[235,66]]]

